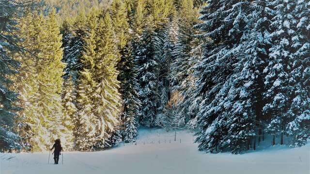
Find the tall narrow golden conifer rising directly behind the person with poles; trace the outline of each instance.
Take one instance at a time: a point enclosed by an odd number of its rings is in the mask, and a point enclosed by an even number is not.
[[[66,116],[63,115],[61,90],[62,90],[62,72],[64,64],[62,59],[62,37],[60,35],[60,28],[56,20],[55,10],[46,19],[46,30],[44,33],[46,41],[41,44],[42,51],[45,54],[44,69],[40,68],[41,72],[38,73],[37,80],[39,82],[38,106],[41,108],[41,124],[47,129],[47,137],[45,139],[46,146],[49,147],[50,142],[60,138],[64,145],[68,145],[65,139],[70,132],[68,128],[62,125],[62,119]],[[44,136],[44,134],[42,134]]]

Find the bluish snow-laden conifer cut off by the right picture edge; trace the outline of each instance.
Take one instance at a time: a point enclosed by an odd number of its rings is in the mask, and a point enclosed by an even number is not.
[[[292,60],[293,67],[290,76],[296,82],[295,98],[290,110],[296,113],[294,120],[287,125],[288,133],[292,135],[291,146],[302,146],[309,142],[309,0],[298,1],[294,10],[297,19],[296,31],[299,37],[292,38],[293,47],[297,50]],[[308,22],[307,22],[308,19]],[[298,91],[298,92],[297,92]],[[297,112],[296,112],[297,111]]]

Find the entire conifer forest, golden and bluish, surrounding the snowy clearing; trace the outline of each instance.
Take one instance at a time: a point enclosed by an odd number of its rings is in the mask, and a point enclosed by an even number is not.
[[[207,153],[309,144],[310,0],[0,0],[0,152],[140,128]]]

